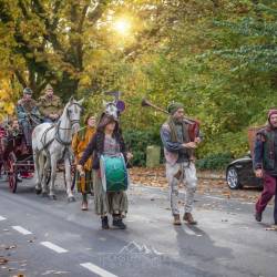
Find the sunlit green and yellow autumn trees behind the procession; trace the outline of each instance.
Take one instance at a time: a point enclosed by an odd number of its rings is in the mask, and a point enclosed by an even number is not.
[[[125,140],[144,165],[166,115],[142,99],[183,102],[205,135],[198,166],[223,167],[277,105],[276,19],[275,0],[0,0],[0,116],[25,86],[37,99],[51,83],[96,113],[119,90]]]

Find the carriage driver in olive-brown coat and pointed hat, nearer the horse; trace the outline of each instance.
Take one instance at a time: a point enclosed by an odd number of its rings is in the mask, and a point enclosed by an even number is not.
[[[62,101],[54,91],[51,84],[48,84],[44,90],[44,95],[38,100],[40,113],[43,115],[43,122],[54,123],[62,114]]]

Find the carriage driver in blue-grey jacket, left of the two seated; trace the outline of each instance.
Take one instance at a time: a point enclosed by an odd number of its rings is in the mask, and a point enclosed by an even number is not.
[[[18,121],[22,126],[28,148],[32,144],[31,135],[33,127],[41,123],[41,115],[37,102],[32,99],[32,93],[30,88],[25,88],[23,90],[23,98],[17,104]]]

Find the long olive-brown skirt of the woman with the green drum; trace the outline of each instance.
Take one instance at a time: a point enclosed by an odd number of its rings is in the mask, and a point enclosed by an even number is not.
[[[105,216],[110,214],[125,217],[127,213],[127,195],[121,192],[104,192],[99,171],[93,171],[93,191],[95,214]]]

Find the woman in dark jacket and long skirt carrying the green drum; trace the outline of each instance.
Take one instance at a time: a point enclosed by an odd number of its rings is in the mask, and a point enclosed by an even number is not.
[[[119,122],[111,115],[103,115],[98,124],[96,133],[85,148],[78,170],[83,172],[83,167],[89,157],[93,154],[93,191],[95,213],[101,216],[102,228],[107,229],[109,217],[113,217],[113,226],[125,229],[123,218],[127,213],[127,195],[125,191],[105,192],[100,173],[101,155],[116,155],[122,153],[125,162],[132,158],[132,154],[126,151],[124,140],[119,129]]]

